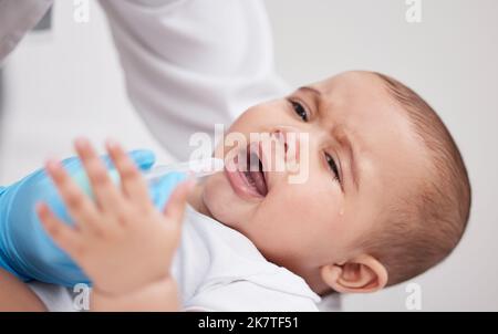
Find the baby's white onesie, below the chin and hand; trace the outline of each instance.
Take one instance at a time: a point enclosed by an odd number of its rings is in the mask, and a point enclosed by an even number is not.
[[[267,261],[242,233],[187,206],[172,274],[186,311],[318,311],[303,279]],[[68,289],[31,283],[50,311],[75,311]]]

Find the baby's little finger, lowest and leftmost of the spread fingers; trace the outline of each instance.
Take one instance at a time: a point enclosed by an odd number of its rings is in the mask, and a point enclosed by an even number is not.
[[[37,206],[37,213],[53,241],[75,259],[82,246],[80,233],[56,218],[45,203],[39,203]]]

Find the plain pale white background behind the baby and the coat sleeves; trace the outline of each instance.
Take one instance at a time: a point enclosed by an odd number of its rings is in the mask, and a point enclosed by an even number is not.
[[[403,0],[266,2],[277,67],[292,85],[375,70],[404,81],[438,111],[470,173],[471,220],[452,257],[413,282],[422,286],[424,311],[498,311],[498,1],[423,0],[422,23],[405,21]],[[76,24],[72,1],[56,1],[52,32],[31,34],[9,58],[0,182],[48,156],[70,155],[80,134],[159,150],[126,100],[101,9],[91,10],[91,22]],[[345,296],[343,309],[405,311],[405,288]]]

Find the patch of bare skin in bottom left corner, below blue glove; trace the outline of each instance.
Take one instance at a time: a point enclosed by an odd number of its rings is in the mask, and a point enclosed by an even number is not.
[[[46,307],[31,289],[0,268],[0,312],[42,312]]]

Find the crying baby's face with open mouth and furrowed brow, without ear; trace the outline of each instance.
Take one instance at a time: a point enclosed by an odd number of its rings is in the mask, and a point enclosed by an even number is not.
[[[414,185],[423,164],[423,148],[405,112],[375,75],[363,72],[253,106],[228,133],[240,133],[248,142],[251,133],[309,136],[308,161],[300,165],[308,168],[303,182],[290,182],[290,171],[269,170],[261,195],[243,175],[226,171],[208,178],[203,192],[215,219],[247,236],[270,261],[298,273],[360,252],[359,238],[376,228],[383,208]],[[215,155],[230,165],[230,149],[240,149],[234,147],[225,143]],[[271,155],[262,153],[266,159]]]

